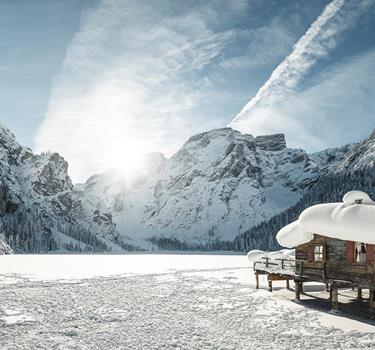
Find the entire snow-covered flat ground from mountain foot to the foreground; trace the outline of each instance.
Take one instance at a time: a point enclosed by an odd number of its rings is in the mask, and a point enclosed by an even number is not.
[[[278,288],[255,290],[245,256],[1,256],[0,277],[1,349],[375,344],[369,322],[294,303]]]

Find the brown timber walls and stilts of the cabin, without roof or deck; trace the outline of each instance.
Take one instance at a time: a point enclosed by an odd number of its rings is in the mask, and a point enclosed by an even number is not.
[[[295,260],[296,299],[300,299],[302,283],[325,283],[330,290],[332,307],[338,308],[338,289],[369,289],[369,305],[375,308],[374,245],[344,241],[314,234],[314,239],[297,246]]]

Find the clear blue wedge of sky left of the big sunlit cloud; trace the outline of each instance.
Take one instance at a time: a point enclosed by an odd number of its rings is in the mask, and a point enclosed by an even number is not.
[[[0,0],[0,121],[29,147],[87,5],[78,0]]]

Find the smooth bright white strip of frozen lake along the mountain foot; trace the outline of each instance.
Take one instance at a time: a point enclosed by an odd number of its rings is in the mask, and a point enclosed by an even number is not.
[[[242,255],[0,255],[0,275],[46,280],[246,267],[249,263]]]

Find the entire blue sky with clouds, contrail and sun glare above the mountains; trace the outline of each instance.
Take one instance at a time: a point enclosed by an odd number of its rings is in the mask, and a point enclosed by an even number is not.
[[[0,122],[74,181],[231,126],[310,152],[375,127],[374,0],[0,0]]]

